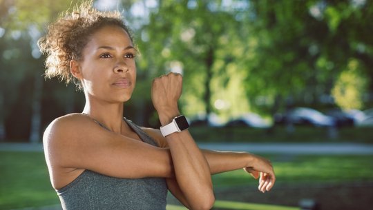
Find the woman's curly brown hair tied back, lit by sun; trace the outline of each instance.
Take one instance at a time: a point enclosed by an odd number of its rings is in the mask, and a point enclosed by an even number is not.
[[[48,26],[47,33],[37,42],[41,53],[46,55],[46,78],[59,78],[66,84],[73,81],[79,89],[79,80],[70,73],[70,61],[81,61],[82,51],[90,36],[100,28],[115,25],[123,28],[133,43],[131,30],[119,12],[100,12],[93,8],[92,1],[62,13],[59,19]]]

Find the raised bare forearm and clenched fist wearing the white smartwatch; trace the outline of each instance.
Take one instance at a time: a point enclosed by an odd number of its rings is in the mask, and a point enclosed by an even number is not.
[[[152,101],[162,125],[171,123],[180,114],[178,99],[182,91],[180,74],[167,74],[153,81]],[[211,172],[206,158],[195,144],[188,130],[166,136],[175,180],[182,191],[187,207],[211,209],[215,200]]]

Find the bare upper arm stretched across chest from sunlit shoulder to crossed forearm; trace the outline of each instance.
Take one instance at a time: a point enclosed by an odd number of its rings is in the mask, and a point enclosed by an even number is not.
[[[77,169],[118,178],[174,176],[169,149],[108,132],[81,114],[53,121],[44,133],[44,151],[55,188],[64,187],[61,179]]]

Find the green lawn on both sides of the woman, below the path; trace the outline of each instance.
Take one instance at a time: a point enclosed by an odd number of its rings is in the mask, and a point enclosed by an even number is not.
[[[336,190],[343,191],[343,186],[346,185],[368,185],[369,190],[372,189],[373,156],[276,155],[268,158],[272,160],[277,175],[276,186],[271,192],[260,193],[256,189],[257,181],[242,170],[218,174],[213,176],[217,198],[214,209],[265,210],[276,207],[280,210],[282,205],[296,207],[298,200],[293,198],[298,196],[299,191],[291,192],[289,189],[300,189],[305,192],[310,186],[321,187],[321,191],[325,191],[329,196],[334,191],[324,190],[323,187],[342,186]],[[44,154],[1,151],[0,160],[0,209],[40,207],[59,203],[55,191],[50,186]],[[284,194],[284,191],[289,191],[289,194]],[[291,193],[294,193],[294,196],[289,196]],[[315,193],[319,195],[320,191]],[[370,191],[365,193],[365,196],[370,198],[373,196]],[[171,203],[168,209],[178,210],[180,207]]]

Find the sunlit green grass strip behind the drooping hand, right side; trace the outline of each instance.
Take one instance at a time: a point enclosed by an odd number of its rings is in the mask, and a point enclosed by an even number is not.
[[[269,158],[276,172],[277,184],[304,183],[343,184],[345,182],[373,182],[373,156],[296,156],[276,155]],[[242,170],[213,176],[215,187],[256,185]]]

